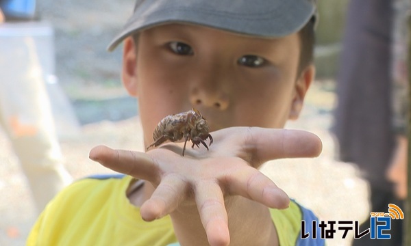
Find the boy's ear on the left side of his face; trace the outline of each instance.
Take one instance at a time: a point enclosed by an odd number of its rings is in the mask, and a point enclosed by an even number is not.
[[[123,46],[123,69],[121,78],[123,85],[130,96],[137,96],[137,52],[136,44],[132,37],[124,40]]]

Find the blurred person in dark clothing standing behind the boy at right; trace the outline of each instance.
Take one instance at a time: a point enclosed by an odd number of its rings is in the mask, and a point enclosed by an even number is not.
[[[387,178],[395,153],[403,149],[401,141],[397,143],[400,130],[395,130],[393,124],[393,105],[404,102],[392,94],[395,92],[393,68],[398,66],[393,61],[399,59],[393,53],[393,30],[397,29],[397,19],[402,18],[394,6],[399,2],[405,1],[350,1],[337,77],[338,103],[333,131],[338,140],[339,158],[358,165],[368,180],[370,212],[386,212],[388,204],[403,208],[404,197],[395,193],[393,177]],[[406,20],[402,21],[406,24]],[[370,219],[362,223],[359,231],[367,228]],[[390,240],[364,236],[353,241],[353,245],[401,245],[401,219],[391,220],[389,233]]]

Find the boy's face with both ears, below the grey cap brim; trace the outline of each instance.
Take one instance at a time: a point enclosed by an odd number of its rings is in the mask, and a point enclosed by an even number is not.
[[[282,128],[297,118],[314,68],[297,74],[300,40],[238,36],[169,24],[125,40],[123,82],[138,96],[145,144],[166,115],[198,109],[210,131],[229,126]],[[297,76],[298,75],[298,76]]]

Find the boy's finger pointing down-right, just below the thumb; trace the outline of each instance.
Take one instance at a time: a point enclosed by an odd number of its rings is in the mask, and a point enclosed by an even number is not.
[[[288,208],[290,204],[288,195],[253,167],[244,167],[238,172],[227,174],[225,184],[230,194],[241,195],[270,208]]]

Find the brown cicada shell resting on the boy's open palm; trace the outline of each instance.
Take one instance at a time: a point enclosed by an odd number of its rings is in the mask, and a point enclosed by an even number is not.
[[[209,146],[212,143],[212,137],[208,131],[207,120],[203,118],[203,115],[196,109],[184,113],[167,115],[155,126],[153,132],[154,142],[147,147],[147,150],[153,146],[159,146],[167,140],[175,142],[181,139],[184,139],[183,156],[186,150],[186,143],[189,140],[192,142],[191,148],[194,148],[194,146],[199,147],[201,143],[208,150],[205,140],[210,139]]]

